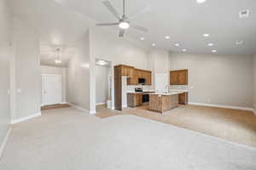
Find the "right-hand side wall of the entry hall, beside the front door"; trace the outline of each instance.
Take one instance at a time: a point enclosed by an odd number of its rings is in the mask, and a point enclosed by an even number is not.
[[[86,110],[90,110],[89,50],[89,32],[86,32],[67,67],[67,102]]]

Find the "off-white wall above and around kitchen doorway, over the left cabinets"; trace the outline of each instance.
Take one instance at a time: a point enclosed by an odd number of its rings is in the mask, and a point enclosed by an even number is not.
[[[148,69],[148,49],[142,42],[118,37],[117,31],[99,27],[90,30],[90,111],[92,113],[95,112],[96,105],[96,89],[93,88],[96,86],[95,59],[106,59],[111,61],[113,66],[123,64]],[[112,90],[112,99],[114,99],[113,94]]]

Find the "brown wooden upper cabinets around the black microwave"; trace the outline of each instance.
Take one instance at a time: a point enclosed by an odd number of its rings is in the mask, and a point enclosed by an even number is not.
[[[116,65],[116,67],[119,67],[122,77],[128,77],[127,78],[128,85],[139,84],[138,82],[139,78],[145,79],[145,83],[144,83],[145,85],[151,85],[151,71],[137,69],[129,65]]]

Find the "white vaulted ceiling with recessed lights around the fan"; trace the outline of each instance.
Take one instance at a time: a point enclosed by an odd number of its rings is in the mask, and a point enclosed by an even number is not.
[[[112,0],[121,14],[122,1]],[[126,36],[155,48],[171,51],[187,49],[189,53],[255,54],[256,53],[256,1],[255,0],[126,0],[128,16],[144,10],[132,18],[131,23],[148,28],[148,32],[128,30]],[[19,15],[40,34],[43,44],[72,44],[96,22],[117,20],[102,4],[102,0],[10,0],[13,14]],[[249,9],[247,19],[239,19],[241,10]],[[118,30],[115,26],[117,36]],[[202,34],[210,37],[202,37]],[[169,36],[170,39],[165,37]],[[236,41],[243,41],[237,45]],[[213,47],[207,46],[214,43]],[[174,44],[179,43],[176,47]]]

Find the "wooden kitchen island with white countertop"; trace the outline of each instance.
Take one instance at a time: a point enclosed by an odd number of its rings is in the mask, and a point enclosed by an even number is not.
[[[184,92],[149,94],[149,110],[164,113],[178,107],[178,94]]]

